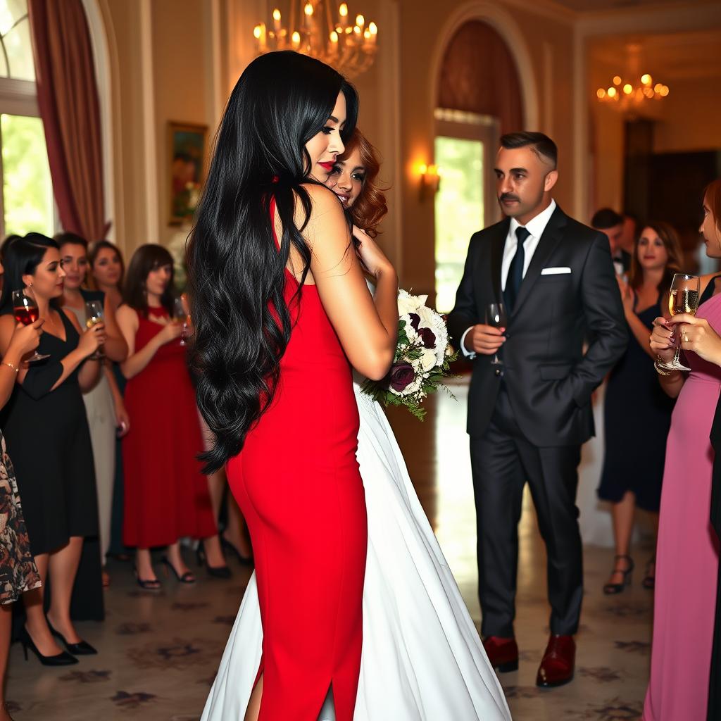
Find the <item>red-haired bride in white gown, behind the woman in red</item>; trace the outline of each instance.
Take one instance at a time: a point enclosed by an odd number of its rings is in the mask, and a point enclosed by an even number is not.
[[[356,131],[327,181],[346,208],[361,196],[354,219],[365,219],[371,228],[386,211],[383,195],[372,182],[378,171],[373,146]],[[510,720],[503,689],[383,409],[361,393],[357,382],[354,389],[361,417],[358,463],[368,509],[363,654],[354,720]],[[244,718],[261,644],[254,574],[201,721]],[[327,702],[319,721],[334,719],[332,702]]]

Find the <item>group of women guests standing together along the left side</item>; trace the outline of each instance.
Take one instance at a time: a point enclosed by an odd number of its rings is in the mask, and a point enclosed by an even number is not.
[[[181,539],[199,541],[198,561],[221,578],[231,575],[224,549],[246,564],[252,552],[230,494],[218,535],[226,482],[198,461],[212,439],[169,252],[143,245],[126,271],[105,240],[29,233],[0,253],[2,674],[12,637],[43,665],[97,653],[74,622],[103,618],[107,557],[132,562],[152,591],[162,581],[151,549],[165,549],[180,583],[195,583]]]

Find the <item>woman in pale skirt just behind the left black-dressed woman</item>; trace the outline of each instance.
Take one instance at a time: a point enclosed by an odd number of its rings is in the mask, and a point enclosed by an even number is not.
[[[128,345],[115,322],[115,308],[110,298],[102,291],[88,291],[83,288],[89,268],[87,241],[74,233],[58,234],[56,241],[60,245],[61,262],[66,274],[63,284],[63,309],[73,311],[81,327],[92,327],[94,323],[103,320],[107,340],[103,345],[102,353],[109,361],[124,361],[125,356],[128,355]],[[130,428],[123,397],[108,363],[103,363],[97,385],[83,394],[83,400],[90,426],[97,482],[102,585],[107,587],[110,578],[105,570],[105,554],[110,547],[110,516],[115,481],[115,436],[116,431],[119,435],[125,435]]]

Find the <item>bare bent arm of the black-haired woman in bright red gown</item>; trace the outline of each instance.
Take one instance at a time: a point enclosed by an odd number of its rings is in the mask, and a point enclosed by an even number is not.
[[[323,308],[351,365],[367,378],[380,380],[388,373],[396,349],[398,276],[366,234],[356,255],[342,206],[332,191],[317,185],[305,187],[313,211],[304,237]],[[302,220],[296,218],[297,223]],[[375,278],[375,296],[368,292],[359,256]]]

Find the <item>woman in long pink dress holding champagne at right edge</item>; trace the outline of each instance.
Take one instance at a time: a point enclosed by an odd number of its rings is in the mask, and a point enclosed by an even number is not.
[[[721,208],[721,182],[704,193],[700,231],[709,257],[721,258],[721,224],[712,208]],[[697,281],[697,282],[696,282]],[[710,297],[695,309],[699,297]],[[666,446],[660,523],[656,549],[656,584],[651,677],[644,704],[645,721],[707,717],[712,657],[718,539],[709,520],[714,451],[709,441],[721,390],[721,368],[692,350],[697,325],[721,329],[721,293],[713,275],[681,276],[673,298],[671,321],[657,317],[650,347],[661,386],[677,397]],[[681,314],[679,311],[685,311]],[[694,313],[695,311],[695,313]],[[689,315],[690,314],[690,315]],[[695,315],[694,325],[684,320]],[[684,349],[684,371],[666,370]]]

